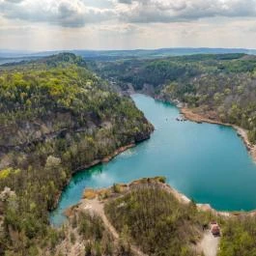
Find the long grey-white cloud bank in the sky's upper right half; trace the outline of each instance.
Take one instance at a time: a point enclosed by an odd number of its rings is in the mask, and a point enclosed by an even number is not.
[[[124,20],[137,23],[255,15],[256,0],[133,0],[121,14]]]

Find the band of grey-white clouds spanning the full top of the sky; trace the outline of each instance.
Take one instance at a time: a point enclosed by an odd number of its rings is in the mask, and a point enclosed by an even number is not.
[[[181,22],[213,16],[255,16],[256,0],[2,0],[7,18],[81,27],[117,20]]]

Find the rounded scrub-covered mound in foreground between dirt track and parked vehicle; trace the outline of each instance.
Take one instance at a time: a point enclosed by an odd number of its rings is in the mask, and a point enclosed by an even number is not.
[[[160,185],[137,185],[125,196],[110,200],[105,212],[115,228],[147,255],[196,256],[203,226],[211,214],[181,204]]]

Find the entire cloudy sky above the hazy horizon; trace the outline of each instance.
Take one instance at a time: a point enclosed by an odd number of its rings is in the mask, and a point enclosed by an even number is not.
[[[0,0],[0,48],[256,48],[256,0]]]

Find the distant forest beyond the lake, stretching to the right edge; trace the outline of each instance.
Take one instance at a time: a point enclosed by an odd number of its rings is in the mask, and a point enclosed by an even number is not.
[[[256,142],[256,57],[242,53],[91,62],[123,91],[180,100],[210,119],[248,130]]]

